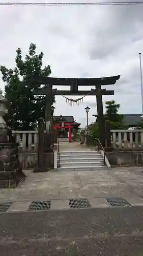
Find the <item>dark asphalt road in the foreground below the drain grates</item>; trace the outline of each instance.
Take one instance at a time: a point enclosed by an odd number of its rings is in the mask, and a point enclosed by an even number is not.
[[[142,256],[143,207],[0,215],[1,256]]]

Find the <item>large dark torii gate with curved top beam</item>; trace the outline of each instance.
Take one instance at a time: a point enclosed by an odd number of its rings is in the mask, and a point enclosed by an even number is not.
[[[56,77],[43,77],[33,76],[31,81],[33,83],[45,84],[46,88],[41,88],[34,91],[35,95],[46,95],[46,108],[45,108],[45,122],[47,136],[49,142],[47,147],[50,148],[50,120],[51,120],[51,101],[52,95],[96,95],[97,100],[97,114],[98,114],[98,126],[99,126],[99,139],[103,146],[105,146],[105,124],[103,115],[103,102],[102,95],[114,95],[113,90],[102,89],[101,86],[107,86],[109,84],[115,84],[119,80],[120,75],[101,77],[101,78],[56,78]],[[52,86],[70,86],[70,91],[52,89]],[[95,86],[95,90],[78,91],[78,86]]]

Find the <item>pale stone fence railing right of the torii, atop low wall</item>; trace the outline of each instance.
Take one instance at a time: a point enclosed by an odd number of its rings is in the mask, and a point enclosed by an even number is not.
[[[143,130],[111,130],[114,148],[143,148]]]

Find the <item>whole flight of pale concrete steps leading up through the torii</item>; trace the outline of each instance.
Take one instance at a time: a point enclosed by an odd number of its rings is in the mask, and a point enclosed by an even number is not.
[[[60,152],[58,170],[96,170],[106,169],[99,151],[63,151]]]

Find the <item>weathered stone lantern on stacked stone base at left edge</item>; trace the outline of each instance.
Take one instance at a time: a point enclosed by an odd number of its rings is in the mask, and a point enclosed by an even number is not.
[[[18,145],[4,120],[8,100],[2,93],[0,90],[0,188],[10,188],[15,187],[24,174],[18,159]]]

